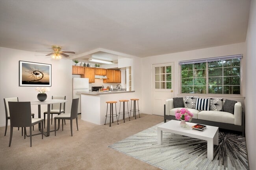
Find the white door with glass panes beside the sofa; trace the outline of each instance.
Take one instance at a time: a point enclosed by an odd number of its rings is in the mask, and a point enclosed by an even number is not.
[[[173,63],[152,65],[152,114],[163,116],[166,99],[173,98]]]

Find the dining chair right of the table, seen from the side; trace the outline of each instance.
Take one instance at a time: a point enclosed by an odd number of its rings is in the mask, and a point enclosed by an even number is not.
[[[60,119],[62,120],[62,131],[63,131],[63,120],[70,120],[70,130],[71,130],[71,136],[72,134],[72,120],[76,119],[76,128],[78,130],[78,119],[77,119],[77,112],[78,112],[78,102],[79,98],[72,99],[72,105],[71,105],[71,112],[70,113],[61,113],[60,115],[57,115],[54,117],[54,131],[56,136],[56,120]]]

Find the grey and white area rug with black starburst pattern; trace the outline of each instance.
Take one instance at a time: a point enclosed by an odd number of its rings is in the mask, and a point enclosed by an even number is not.
[[[157,144],[160,124],[109,147],[163,170],[248,170],[245,137],[219,130],[219,145],[214,145],[211,161],[207,142],[200,139],[163,132],[163,144]]]

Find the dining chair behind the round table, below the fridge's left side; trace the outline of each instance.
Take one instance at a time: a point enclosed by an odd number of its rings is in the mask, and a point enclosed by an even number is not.
[[[61,100],[66,100],[66,96],[52,96],[52,99],[61,99]],[[64,103],[55,103],[52,104],[52,109],[50,110],[50,114],[61,114],[61,113],[65,113],[65,102]],[[44,112],[44,119],[45,119],[45,115],[47,114],[47,111]],[[52,124],[52,120],[51,120],[51,124]],[[66,124],[66,122],[65,122]],[[45,125],[45,122],[44,122]]]

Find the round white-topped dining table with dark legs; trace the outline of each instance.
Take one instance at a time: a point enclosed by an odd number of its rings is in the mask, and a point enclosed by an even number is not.
[[[38,105],[38,118],[41,118],[41,105],[43,104],[47,104],[47,128],[46,128],[46,132],[43,131],[43,134],[45,136],[49,136],[50,132],[54,131],[50,131],[50,110],[51,110],[51,104],[54,103],[65,103],[67,102],[67,100],[63,100],[63,99],[48,99],[46,101],[31,101],[30,104],[31,105]],[[60,106],[61,108],[61,106]],[[45,120],[44,120],[45,121]],[[41,132],[41,124],[39,123],[39,131]],[[41,134],[41,133],[38,133]],[[33,135],[37,135],[37,134],[33,134]]]

